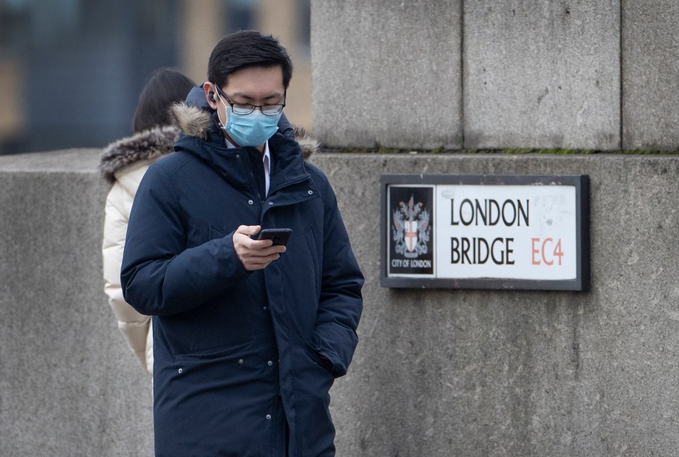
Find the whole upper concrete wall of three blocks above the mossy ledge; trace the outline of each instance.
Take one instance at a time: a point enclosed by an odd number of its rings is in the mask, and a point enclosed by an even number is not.
[[[328,146],[679,149],[673,0],[312,2]]]

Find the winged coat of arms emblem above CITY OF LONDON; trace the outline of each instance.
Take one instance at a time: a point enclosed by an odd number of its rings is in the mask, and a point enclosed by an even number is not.
[[[429,242],[429,212],[424,209],[422,202],[414,203],[413,196],[410,201],[398,203],[397,210],[393,214],[393,238],[396,243],[397,254],[408,259],[416,259],[417,256],[427,253],[426,244]]]

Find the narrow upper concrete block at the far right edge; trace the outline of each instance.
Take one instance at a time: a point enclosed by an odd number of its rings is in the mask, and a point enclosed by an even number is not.
[[[622,147],[679,149],[679,3],[622,1]]]

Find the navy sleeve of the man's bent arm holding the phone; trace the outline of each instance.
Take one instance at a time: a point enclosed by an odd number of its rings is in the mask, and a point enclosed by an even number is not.
[[[155,163],[134,198],[122,258],[122,292],[140,313],[187,311],[250,274],[236,256],[233,233],[187,249],[185,230],[173,183]]]

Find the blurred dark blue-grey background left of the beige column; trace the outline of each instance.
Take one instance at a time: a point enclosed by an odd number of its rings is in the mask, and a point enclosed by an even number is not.
[[[177,1],[0,1],[0,153],[101,147],[132,133],[146,78],[176,66]],[[14,116],[14,119],[11,117]]]

